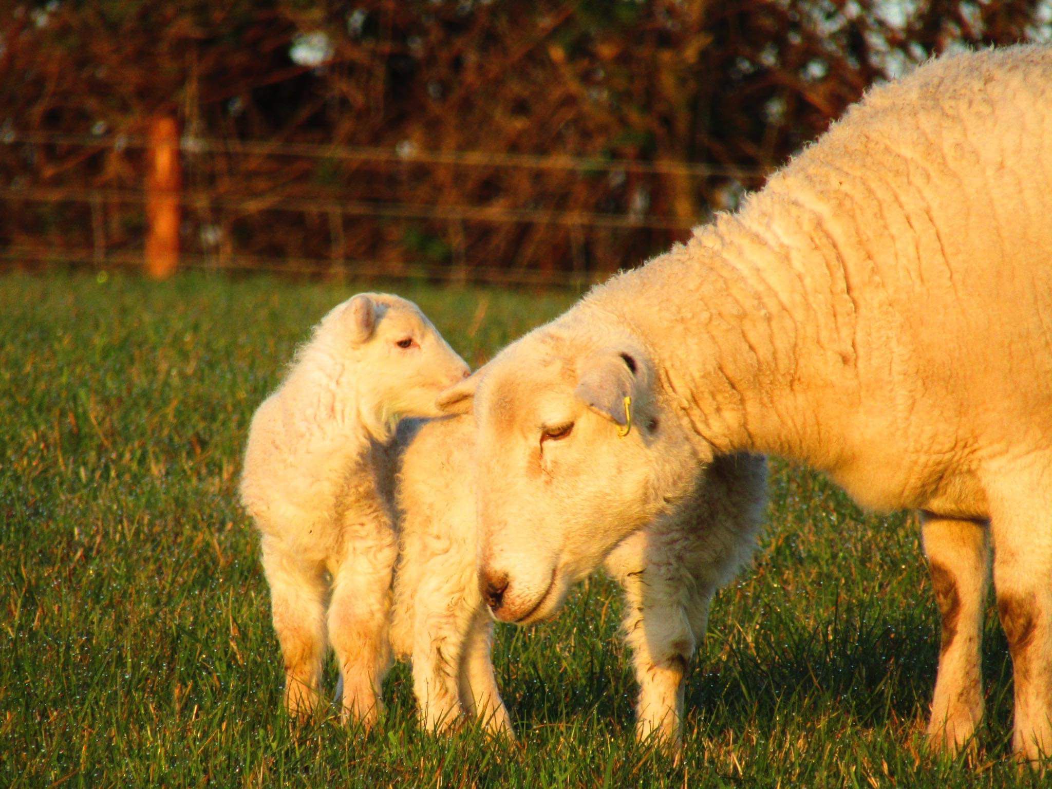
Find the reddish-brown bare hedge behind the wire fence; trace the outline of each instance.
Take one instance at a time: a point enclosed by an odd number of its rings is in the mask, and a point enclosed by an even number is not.
[[[31,259],[141,249],[138,143],[166,115],[183,129],[190,255],[603,272],[732,205],[875,80],[951,46],[1047,37],[1041,7],[22,2],[0,24],[0,243]]]

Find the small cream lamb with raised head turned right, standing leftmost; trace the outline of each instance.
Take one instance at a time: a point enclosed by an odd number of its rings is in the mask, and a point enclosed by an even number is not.
[[[291,714],[318,703],[327,641],[342,717],[380,714],[397,539],[376,460],[399,418],[434,416],[436,393],[467,375],[414,304],[359,294],[322,319],[256,411],[241,500],[261,537]]]

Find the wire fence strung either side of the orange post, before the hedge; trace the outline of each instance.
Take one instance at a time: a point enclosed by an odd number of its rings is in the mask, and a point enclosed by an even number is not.
[[[0,128],[0,265],[141,267],[156,222],[156,185],[145,176],[156,145],[147,136]],[[180,174],[164,195],[179,211],[179,267],[355,279],[580,286],[642,262],[704,220],[653,200],[667,181],[721,179],[734,195],[766,175],[410,143],[184,134],[170,148]],[[458,179],[471,188],[441,187]]]

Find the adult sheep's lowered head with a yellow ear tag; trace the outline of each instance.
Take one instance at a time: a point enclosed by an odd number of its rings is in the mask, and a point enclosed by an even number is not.
[[[561,321],[440,397],[473,408],[479,583],[493,614],[546,619],[629,533],[691,489],[696,457],[630,332]]]

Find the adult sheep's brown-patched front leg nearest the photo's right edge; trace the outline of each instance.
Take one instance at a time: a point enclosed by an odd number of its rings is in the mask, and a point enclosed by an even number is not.
[[[1031,461],[1033,463],[1033,461]],[[1052,464],[988,485],[997,612],[1015,685],[1016,753],[1052,756]]]

